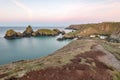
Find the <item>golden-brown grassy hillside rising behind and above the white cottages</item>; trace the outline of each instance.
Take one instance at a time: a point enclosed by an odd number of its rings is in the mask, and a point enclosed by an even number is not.
[[[120,27],[120,22],[103,22],[98,24],[71,25],[68,28],[79,30],[79,35],[88,36],[91,34],[112,34]]]

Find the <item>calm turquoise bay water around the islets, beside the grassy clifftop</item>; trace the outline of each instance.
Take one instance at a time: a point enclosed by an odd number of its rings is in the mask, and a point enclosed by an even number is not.
[[[70,42],[70,40],[57,41],[56,39],[59,36],[6,40],[3,36],[7,29],[10,28],[0,28],[0,65],[18,60],[34,59],[46,56]],[[25,28],[12,29],[23,31]]]

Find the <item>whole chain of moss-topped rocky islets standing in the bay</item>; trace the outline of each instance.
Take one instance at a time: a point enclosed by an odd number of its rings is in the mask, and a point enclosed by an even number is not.
[[[6,39],[16,39],[22,37],[36,37],[36,36],[56,36],[59,34],[65,34],[64,31],[58,29],[38,29],[33,31],[32,27],[29,25],[23,33],[16,32],[12,29],[8,30],[5,34]]]

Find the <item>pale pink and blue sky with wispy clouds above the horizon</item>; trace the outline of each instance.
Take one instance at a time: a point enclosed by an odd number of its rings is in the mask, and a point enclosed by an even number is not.
[[[120,0],[0,0],[2,26],[120,22]]]

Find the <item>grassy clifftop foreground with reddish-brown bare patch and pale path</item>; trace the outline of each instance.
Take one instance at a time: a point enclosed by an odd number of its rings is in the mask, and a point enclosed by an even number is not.
[[[76,40],[49,56],[0,67],[2,80],[119,80],[120,44]],[[112,53],[110,53],[112,51]],[[114,54],[116,53],[116,54]]]

